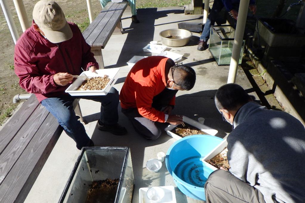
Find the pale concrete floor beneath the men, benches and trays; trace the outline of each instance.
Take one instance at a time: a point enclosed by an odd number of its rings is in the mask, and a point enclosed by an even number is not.
[[[184,15],[183,7],[138,9],[139,24],[131,23],[130,17],[130,11],[125,11],[122,17],[124,34],[112,35],[106,48],[102,50],[106,68],[121,68],[120,78],[114,85],[119,91],[130,70],[126,62],[134,55],[155,55],[143,52],[142,48],[152,40],[161,43],[160,31],[178,28],[177,23],[180,22],[202,22],[203,20],[202,15]],[[197,120],[198,117],[204,117],[204,124],[218,130],[216,136],[223,138],[231,131],[231,125],[224,122],[221,114],[218,113],[214,104],[214,94],[220,86],[227,83],[229,66],[218,66],[208,50],[197,51],[199,36],[199,33],[193,33],[189,44],[184,47],[167,47],[168,51],[182,54],[183,64],[194,68],[197,75],[196,84],[192,90],[177,93],[174,113],[185,115],[194,120]],[[236,83],[256,96],[241,68],[238,69]],[[256,98],[258,97],[256,96]],[[156,158],[157,152],[167,152],[170,145],[175,142],[174,138],[163,131],[157,140],[145,140],[135,132],[127,117],[120,112],[120,105],[118,107],[119,123],[127,128],[128,134],[116,136],[99,131],[96,125],[100,104],[91,100],[81,100],[80,105],[84,119],[88,122],[85,125],[86,131],[96,146],[128,146],[131,148],[135,177],[133,203],[139,202],[139,188],[168,185],[175,187],[178,203],[203,202],[189,198],[179,191],[166,169],[165,162],[157,173],[150,172],[145,168],[146,161]],[[166,127],[164,124],[162,126]],[[79,153],[74,141],[63,132],[25,202],[57,202]]]

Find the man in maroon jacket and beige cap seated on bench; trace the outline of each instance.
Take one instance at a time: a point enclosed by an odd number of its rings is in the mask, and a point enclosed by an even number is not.
[[[118,91],[112,88],[106,96],[70,96],[65,89],[73,82],[72,75],[82,69],[94,72],[99,68],[90,46],[76,24],[66,21],[62,9],[54,1],[41,0],[33,9],[33,24],[15,46],[15,73],[19,84],[34,93],[41,103],[75,142],[77,149],[94,146],[84,125],[77,120],[73,100],[83,98],[101,102],[98,128],[115,135],[127,133],[118,122]]]

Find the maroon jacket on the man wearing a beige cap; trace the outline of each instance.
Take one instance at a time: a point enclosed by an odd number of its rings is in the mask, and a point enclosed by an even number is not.
[[[89,66],[99,68],[90,51],[81,30],[74,23],[68,22],[73,37],[70,40],[53,44],[45,39],[32,25],[17,40],[14,66],[20,86],[29,93],[34,93],[39,102],[49,97],[66,94],[66,86],[54,83],[53,75],[68,72],[79,75]]]

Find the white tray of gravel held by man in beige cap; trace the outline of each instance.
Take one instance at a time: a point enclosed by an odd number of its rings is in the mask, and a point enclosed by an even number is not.
[[[66,93],[69,93],[71,96],[92,96],[92,95],[106,95],[114,83],[118,79],[118,72],[120,68],[108,68],[108,69],[99,69],[95,72],[84,71],[80,76],[89,76],[89,77],[104,77],[108,75],[110,82],[102,90],[76,90],[84,82],[84,78],[77,78],[67,89]]]

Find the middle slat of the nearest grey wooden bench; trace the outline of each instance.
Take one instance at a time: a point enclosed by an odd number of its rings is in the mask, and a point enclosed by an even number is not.
[[[49,112],[45,108],[36,108],[31,117],[28,118],[27,122],[23,124],[7,145],[7,148],[0,154],[0,186],[48,114]],[[42,128],[45,128],[45,126]]]

